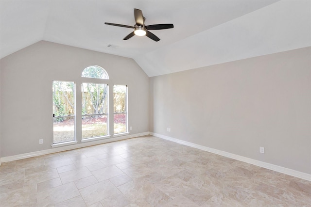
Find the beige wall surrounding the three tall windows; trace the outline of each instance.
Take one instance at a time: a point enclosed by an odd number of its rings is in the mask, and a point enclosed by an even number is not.
[[[110,86],[128,85],[130,134],[149,131],[149,78],[133,59],[41,41],[0,61],[1,157],[51,148],[52,80],[76,82],[77,140],[81,140],[78,91],[85,81],[81,73],[89,65],[102,66]],[[39,139],[44,143],[39,145]]]

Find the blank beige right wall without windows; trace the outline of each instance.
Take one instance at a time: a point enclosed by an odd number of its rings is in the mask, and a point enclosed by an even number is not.
[[[150,93],[151,131],[311,174],[311,48],[153,77]]]

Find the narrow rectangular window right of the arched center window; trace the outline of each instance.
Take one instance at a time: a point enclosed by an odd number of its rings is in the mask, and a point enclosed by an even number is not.
[[[127,86],[113,86],[113,133],[127,132]]]

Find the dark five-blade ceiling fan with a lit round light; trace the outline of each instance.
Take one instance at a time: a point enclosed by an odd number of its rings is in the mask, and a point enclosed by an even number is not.
[[[126,37],[124,37],[123,40],[128,40],[134,35],[138,35],[138,36],[146,35],[147,37],[149,37],[150,39],[156,42],[159,41],[160,39],[157,36],[155,36],[154,33],[149,32],[149,30],[164,30],[164,29],[170,29],[174,27],[173,24],[153,24],[153,25],[146,26],[145,25],[146,18],[142,16],[142,11],[139,9],[134,9],[134,17],[135,17],[135,22],[136,22],[134,26],[114,24],[114,23],[108,23],[108,22],[105,22],[105,24],[134,29],[134,31],[129,33]]]

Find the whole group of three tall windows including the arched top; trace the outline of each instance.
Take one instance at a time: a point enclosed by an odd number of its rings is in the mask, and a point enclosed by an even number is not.
[[[76,83],[57,81],[52,84],[53,144],[52,147],[89,142],[110,137],[109,125],[115,136],[128,133],[127,86],[114,85],[109,95],[109,76],[104,68],[86,67],[81,75],[81,113],[76,114]],[[90,78],[92,80],[90,80]],[[109,115],[109,97],[113,97],[113,114]],[[110,101],[112,103],[112,100]],[[110,108],[112,113],[112,108]],[[81,125],[76,125],[77,118]],[[76,131],[81,132],[76,133]],[[78,137],[77,137],[78,136]],[[81,137],[80,137],[81,136]]]

